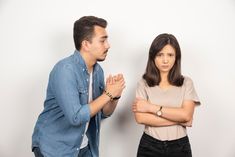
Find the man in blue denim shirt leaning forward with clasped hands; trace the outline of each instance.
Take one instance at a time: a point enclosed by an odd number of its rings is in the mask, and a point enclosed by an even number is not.
[[[84,16],[74,23],[73,55],[50,73],[44,110],[32,136],[36,157],[98,157],[101,119],[113,113],[125,88],[122,74],[104,74],[110,48],[107,22]]]

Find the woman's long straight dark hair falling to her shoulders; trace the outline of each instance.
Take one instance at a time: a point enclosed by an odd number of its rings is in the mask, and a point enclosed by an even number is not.
[[[149,49],[149,58],[146,71],[143,78],[146,80],[148,86],[153,87],[159,85],[161,82],[160,71],[155,65],[155,58],[164,46],[171,45],[176,52],[176,59],[173,67],[169,71],[168,81],[171,85],[182,86],[184,77],[181,74],[181,50],[179,43],[172,34],[160,34],[152,42]]]

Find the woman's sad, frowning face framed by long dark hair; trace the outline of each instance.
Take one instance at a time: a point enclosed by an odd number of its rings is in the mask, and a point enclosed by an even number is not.
[[[158,52],[155,58],[155,65],[160,73],[169,73],[175,64],[176,52],[171,45],[166,45]]]

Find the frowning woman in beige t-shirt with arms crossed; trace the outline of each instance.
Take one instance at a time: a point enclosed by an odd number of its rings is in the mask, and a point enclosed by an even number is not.
[[[181,74],[181,50],[171,34],[158,35],[149,50],[132,110],[145,125],[137,157],[191,157],[186,127],[191,127],[197,93]]]

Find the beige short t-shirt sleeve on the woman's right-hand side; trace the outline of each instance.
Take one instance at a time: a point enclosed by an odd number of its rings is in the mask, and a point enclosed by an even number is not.
[[[186,77],[184,81],[185,81],[184,100],[193,100],[196,105],[200,105],[201,102],[194,88],[193,81],[188,77]]]

